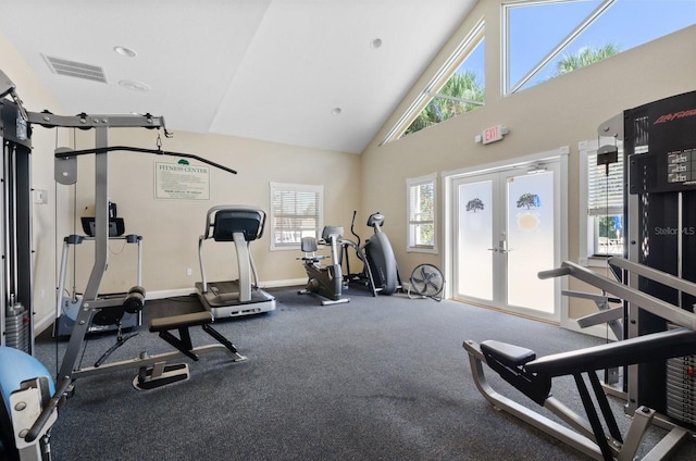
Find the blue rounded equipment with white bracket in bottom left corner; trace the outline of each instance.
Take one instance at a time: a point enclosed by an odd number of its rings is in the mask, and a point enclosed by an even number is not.
[[[49,371],[26,352],[0,346],[0,459],[50,461],[50,432],[70,379],[58,389]]]

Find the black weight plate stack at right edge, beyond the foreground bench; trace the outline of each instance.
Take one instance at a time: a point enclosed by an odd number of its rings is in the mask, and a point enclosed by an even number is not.
[[[667,415],[696,424],[696,356],[667,361]]]

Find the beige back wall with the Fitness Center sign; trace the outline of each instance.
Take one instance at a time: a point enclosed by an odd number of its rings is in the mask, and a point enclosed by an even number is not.
[[[165,116],[166,119],[166,116]],[[94,134],[82,135],[77,148],[94,145]],[[157,130],[111,129],[111,146],[157,148]],[[89,136],[87,139],[83,139]],[[359,203],[359,162],[356,154],[283,146],[228,136],[174,133],[162,136],[162,149],[196,154],[236,170],[233,175],[210,170],[209,200],[154,198],[156,162],[176,163],[175,157],[135,152],[109,155],[109,198],[117,204],[119,216],[127,234],[142,236],[142,285],[150,292],[192,290],[200,281],[198,236],[202,235],[208,210],[217,204],[246,204],[270,212],[270,183],[294,183],[324,186],[325,223],[349,225],[351,211]],[[198,164],[189,160],[191,164]],[[94,159],[80,158],[76,187],[76,217],[94,215]],[[356,180],[358,179],[358,180]],[[72,187],[72,186],[70,186]],[[65,203],[67,211],[72,203]],[[266,230],[270,227],[266,226]],[[262,285],[293,284],[306,278],[296,260],[298,250],[271,251],[271,233],[251,244]],[[78,249],[78,286],[86,284],[85,272],[91,262],[90,242]],[[110,242],[109,270],[102,282],[104,292],[123,290],[135,283],[136,248],[122,240]],[[237,278],[233,244],[208,240],[203,245],[206,273],[209,281]],[[88,267],[91,270],[91,266]],[[186,270],[191,269],[192,275]]]

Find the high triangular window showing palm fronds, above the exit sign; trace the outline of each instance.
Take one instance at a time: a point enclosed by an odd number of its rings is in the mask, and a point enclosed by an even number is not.
[[[483,105],[484,48],[484,22],[481,21],[399,119],[384,142]]]

